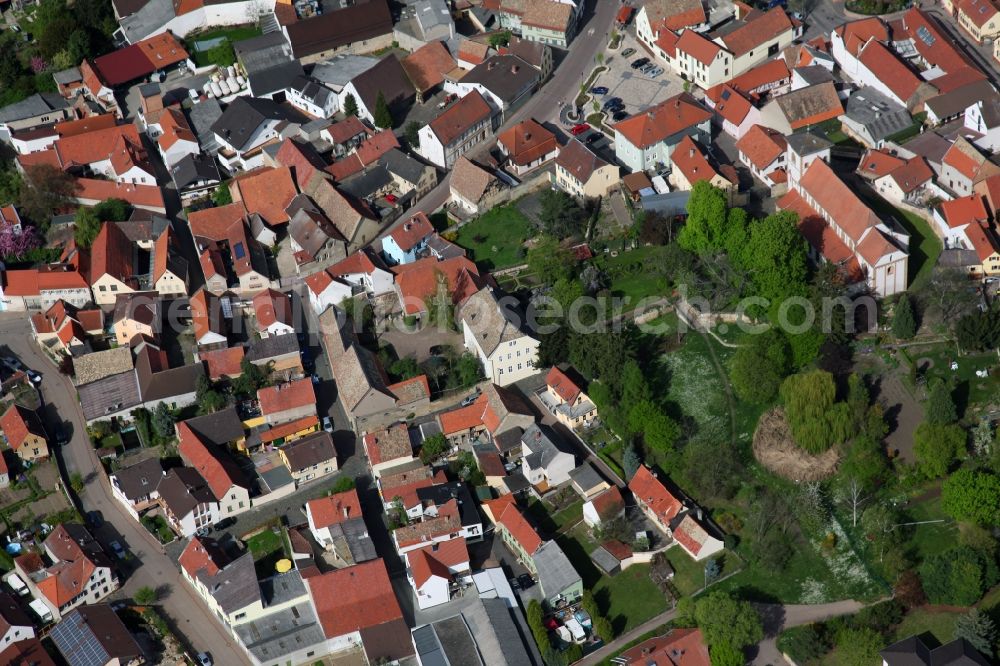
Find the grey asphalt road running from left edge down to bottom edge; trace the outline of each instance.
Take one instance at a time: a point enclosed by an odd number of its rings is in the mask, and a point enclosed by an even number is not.
[[[76,388],[35,346],[25,314],[0,314],[0,351],[4,355],[16,356],[29,368],[42,374],[46,426],[61,422],[70,436],[69,443],[56,450],[58,462],[65,465],[70,473],[79,472],[83,476],[84,489],[80,493],[80,501],[84,510],[100,511],[106,521],[96,536],[105,545],[118,539],[132,554],[133,561],[139,562],[130,575],[122,576],[122,591],[118,594],[129,596],[144,586],[156,588],[161,593],[161,611],[180,638],[195,652],[210,652],[220,666],[249,663],[221,622],[184,581],[177,563],[111,495],[107,475],[87,438],[86,421],[76,399]]]

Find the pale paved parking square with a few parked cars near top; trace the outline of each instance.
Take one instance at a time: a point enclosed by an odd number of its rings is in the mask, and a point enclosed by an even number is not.
[[[621,54],[627,49],[635,49],[635,53],[627,58],[622,57]],[[606,87],[608,94],[598,96],[597,101],[603,103],[604,99],[621,97],[625,112],[632,115],[683,92],[684,81],[661,60],[655,60],[655,64],[665,71],[655,78],[633,70],[629,65],[639,58],[649,58],[654,62],[652,55],[639,44],[632,32],[625,35],[617,50],[605,52],[604,65],[607,69],[597,76],[593,86]],[[593,113],[592,101],[587,103],[585,111],[587,114]]]

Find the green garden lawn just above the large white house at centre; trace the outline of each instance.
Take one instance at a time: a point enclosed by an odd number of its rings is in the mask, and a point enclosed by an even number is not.
[[[524,263],[524,241],[534,236],[534,227],[511,204],[490,210],[455,233],[455,243],[468,250],[471,260],[497,270]]]

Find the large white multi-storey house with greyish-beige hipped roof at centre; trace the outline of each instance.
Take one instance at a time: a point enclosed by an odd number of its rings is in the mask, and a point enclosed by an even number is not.
[[[465,348],[479,358],[489,381],[507,386],[537,372],[538,340],[525,332],[512,304],[501,303],[488,287],[462,304],[458,319]]]

